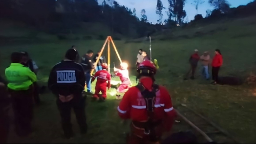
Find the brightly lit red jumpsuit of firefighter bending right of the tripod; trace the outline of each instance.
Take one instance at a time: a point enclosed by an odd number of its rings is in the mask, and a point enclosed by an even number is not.
[[[127,69],[119,69],[118,71],[115,71],[115,75],[119,76],[122,84],[117,88],[117,92],[124,93],[127,91],[127,89],[130,88],[130,78],[129,78],[129,71]]]

